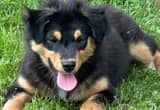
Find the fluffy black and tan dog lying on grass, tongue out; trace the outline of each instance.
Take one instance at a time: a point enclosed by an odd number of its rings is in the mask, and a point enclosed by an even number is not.
[[[112,6],[89,7],[78,0],[47,0],[25,9],[26,55],[3,110],[21,110],[37,91],[65,101],[84,101],[80,110],[104,110],[131,60],[160,68],[155,41]]]

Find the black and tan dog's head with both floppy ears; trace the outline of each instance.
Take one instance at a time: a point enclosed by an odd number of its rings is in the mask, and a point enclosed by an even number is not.
[[[60,78],[68,76],[73,82],[74,74],[94,55],[107,28],[104,10],[90,9],[76,0],[49,0],[42,9],[27,8],[23,20],[31,49]]]

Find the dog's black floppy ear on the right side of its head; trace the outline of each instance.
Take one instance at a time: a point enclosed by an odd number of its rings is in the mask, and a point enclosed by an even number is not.
[[[97,44],[100,44],[109,30],[108,20],[105,10],[101,8],[90,9],[84,13],[89,19],[89,24],[92,28],[93,37]]]

